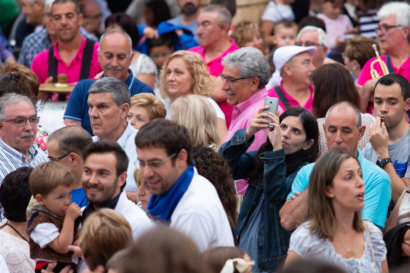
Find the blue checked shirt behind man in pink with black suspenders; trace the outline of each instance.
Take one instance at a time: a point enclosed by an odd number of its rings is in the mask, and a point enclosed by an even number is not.
[[[83,27],[80,27],[80,33],[85,38],[98,42],[96,36],[89,34]],[[48,37],[47,29],[44,27],[39,32],[34,32],[24,39],[23,46],[18,55],[18,63],[31,68],[34,56],[50,47],[50,38]]]

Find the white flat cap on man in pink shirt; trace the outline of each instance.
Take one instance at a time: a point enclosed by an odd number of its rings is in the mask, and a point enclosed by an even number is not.
[[[317,48],[314,46],[298,46],[298,45],[285,45],[279,47],[275,52],[273,52],[273,64],[275,65],[275,72],[272,74],[272,77],[269,79],[266,89],[271,89],[280,84],[282,77],[280,77],[280,70],[283,65],[287,63],[294,56],[301,54],[303,52],[309,52],[310,55],[316,54]]]

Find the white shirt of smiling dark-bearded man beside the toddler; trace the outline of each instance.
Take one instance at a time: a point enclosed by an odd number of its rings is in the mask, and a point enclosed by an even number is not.
[[[135,240],[154,227],[154,223],[148,218],[148,215],[127,198],[125,191],[121,192],[114,210],[128,221],[132,229],[132,237]]]

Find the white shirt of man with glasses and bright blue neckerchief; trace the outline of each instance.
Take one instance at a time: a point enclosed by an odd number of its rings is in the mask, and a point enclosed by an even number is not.
[[[187,191],[171,215],[170,228],[191,237],[201,252],[216,246],[234,246],[232,230],[218,193],[196,168]]]

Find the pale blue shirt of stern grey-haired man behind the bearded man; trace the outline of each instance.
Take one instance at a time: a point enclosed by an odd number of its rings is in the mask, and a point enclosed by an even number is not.
[[[128,156],[127,181],[124,188],[125,192],[137,192],[137,184],[134,179],[134,170],[139,168],[139,161],[137,160],[137,146],[135,145],[135,136],[138,130],[132,127],[131,123],[127,121],[127,127],[124,133],[118,138],[117,143],[125,151]],[[101,140],[98,136],[93,136],[93,141]]]

